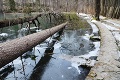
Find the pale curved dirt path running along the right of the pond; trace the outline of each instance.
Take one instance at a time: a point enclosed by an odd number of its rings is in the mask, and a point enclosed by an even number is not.
[[[115,38],[101,22],[94,23],[100,29],[101,50],[86,80],[119,80],[120,62]]]

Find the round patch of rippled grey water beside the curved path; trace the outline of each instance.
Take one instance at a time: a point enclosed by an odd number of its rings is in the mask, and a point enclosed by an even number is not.
[[[62,37],[63,40],[61,41],[61,51],[62,53],[78,56],[87,54],[91,50],[94,49],[93,43],[85,36],[86,31],[83,33],[81,30],[67,30]],[[89,34],[91,31],[88,29],[87,32]],[[86,38],[85,38],[86,37]]]

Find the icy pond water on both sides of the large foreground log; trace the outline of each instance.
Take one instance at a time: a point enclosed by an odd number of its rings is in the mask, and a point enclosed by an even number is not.
[[[48,24],[49,21],[45,22],[47,19],[40,20],[43,29],[51,25]],[[53,21],[55,22],[55,20]],[[54,25],[55,23],[52,23],[51,26]],[[28,35],[28,30],[24,27],[21,28],[20,25],[15,25],[0,29],[0,33],[2,43]],[[91,33],[92,29],[88,25],[87,28],[77,30],[64,29],[61,36],[59,36],[59,33],[54,34],[43,43],[1,68],[0,79],[84,80],[90,68],[74,64],[71,59],[74,56],[87,55],[95,50],[95,44],[86,36],[86,34],[90,35]]]

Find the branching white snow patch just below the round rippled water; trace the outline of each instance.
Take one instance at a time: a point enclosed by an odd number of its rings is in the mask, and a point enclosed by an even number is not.
[[[66,55],[62,54],[60,55],[61,59],[67,60],[71,62],[71,66],[75,67],[78,70],[78,73],[80,74],[79,66],[80,65],[87,65],[87,66],[94,66],[95,60],[89,59],[92,56],[98,56],[99,50],[100,50],[100,42],[94,42],[95,49],[93,51],[90,51],[88,54],[81,55],[81,56],[72,56],[72,55]]]

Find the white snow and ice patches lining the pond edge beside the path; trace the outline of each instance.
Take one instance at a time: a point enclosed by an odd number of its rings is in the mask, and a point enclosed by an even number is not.
[[[91,27],[93,29],[93,33],[98,33],[99,29],[97,28],[97,26],[94,23],[91,22],[92,17],[90,15],[87,15],[84,13],[77,13],[77,15],[79,17],[83,17],[84,19],[86,19],[88,21],[88,23],[91,25]],[[86,40],[89,40],[90,36],[94,36],[94,35],[86,34],[85,36],[83,36],[83,38],[85,38]],[[95,45],[95,49],[85,55],[72,56],[72,55],[62,54],[62,55],[60,55],[60,58],[70,61],[71,66],[75,67],[78,70],[78,73],[80,74],[81,71],[78,68],[80,65],[94,66],[94,64],[95,64],[95,60],[90,59],[90,57],[98,56],[99,50],[100,50],[100,42],[94,42],[93,44]]]

